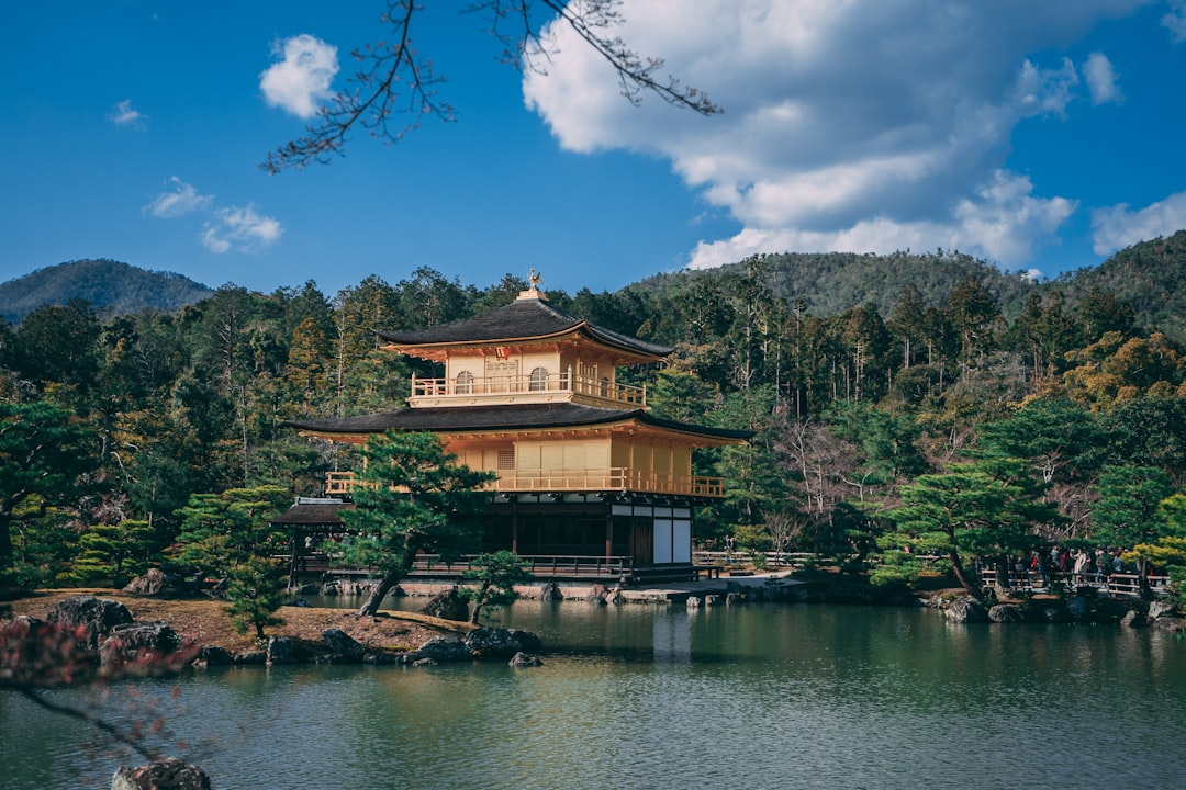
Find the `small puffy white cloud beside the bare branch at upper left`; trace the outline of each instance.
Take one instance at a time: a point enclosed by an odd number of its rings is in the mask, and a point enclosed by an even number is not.
[[[281,60],[260,73],[264,101],[299,117],[313,117],[319,102],[331,94],[338,47],[302,33],[273,44],[272,53]]]

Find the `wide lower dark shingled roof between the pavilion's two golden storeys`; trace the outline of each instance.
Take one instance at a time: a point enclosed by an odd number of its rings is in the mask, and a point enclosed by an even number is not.
[[[465,406],[406,409],[378,415],[339,417],[317,420],[289,420],[285,425],[318,433],[381,433],[400,431],[482,431],[543,428],[580,428],[636,419],[644,425],[665,428],[681,433],[721,439],[747,439],[751,431],[689,425],[650,416],[643,409],[601,409],[575,403],[516,404],[505,406]]]

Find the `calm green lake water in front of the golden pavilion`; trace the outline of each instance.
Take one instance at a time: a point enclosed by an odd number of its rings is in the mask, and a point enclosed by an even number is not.
[[[803,604],[495,619],[544,666],[212,669],[103,709],[159,698],[166,751],[222,790],[1186,786],[1186,641],[1161,632]],[[93,739],[0,694],[0,788],[110,786]]]

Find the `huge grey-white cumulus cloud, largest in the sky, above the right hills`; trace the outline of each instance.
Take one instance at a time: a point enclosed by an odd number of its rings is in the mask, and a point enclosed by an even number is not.
[[[959,249],[1014,268],[1077,208],[1006,169],[1015,127],[1117,101],[1110,62],[1082,73],[1065,49],[1144,0],[626,0],[620,31],[664,72],[708,90],[703,118],[657,99],[635,108],[565,26],[524,98],[561,146],[667,158],[742,224],[691,265],[753,252]],[[1025,24],[1019,24],[1025,20]],[[859,57],[857,57],[859,53]]]

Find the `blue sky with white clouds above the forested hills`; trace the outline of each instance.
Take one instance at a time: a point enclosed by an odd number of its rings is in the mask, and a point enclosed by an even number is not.
[[[567,30],[521,73],[428,2],[413,40],[457,122],[263,173],[389,36],[383,5],[2,4],[0,281],[104,257],[262,291],[432,266],[574,293],[936,248],[1054,276],[1186,227],[1186,0],[625,0],[621,36],[708,118],[631,105]]]

